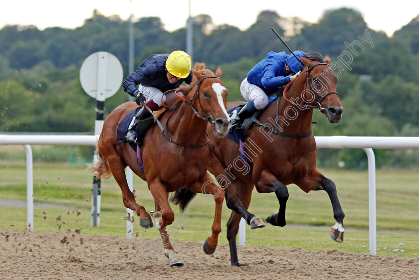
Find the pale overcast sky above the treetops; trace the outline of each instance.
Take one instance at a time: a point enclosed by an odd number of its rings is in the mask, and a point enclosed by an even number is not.
[[[160,17],[165,29],[176,30],[186,25],[190,0],[0,0],[0,28],[5,24],[33,24],[46,27],[75,28],[91,17],[94,9],[109,16],[118,14],[124,20]],[[293,4],[292,4],[293,3]],[[307,6],[307,7],[305,7]],[[262,10],[276,11],[280,16],[298,16],[316,22],[325,10],[350,7],[360,11],[368,26],[384,30],[389,36],[419,14],[419,1],[398,0],[375,2],[366,0],[191,0],[191,15],[209,14],[214,24],[227,23],[247,29]]]

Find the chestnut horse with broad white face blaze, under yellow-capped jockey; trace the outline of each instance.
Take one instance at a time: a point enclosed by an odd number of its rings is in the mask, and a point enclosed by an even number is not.
[[[205,253],[212,254],[215,251],[218,234],[221,232],[224,190],[214,183],[207,171],[210,160],[207,123],[215,129],[218,137],[227,134],[229,118],[225,102],[228,91],[221,82],[220,67],[214,74],[205,69],[204,63],[197,63],[193,72],[193,82],[189,86],[181,86],[180,91],[184,97],[177,94],[183,102],[177,102],[174,109],[167,110],[159,118],[164,131],[155,124],[145,134],[141,157],[137,157],[127,142],[118,143],[118,124],[138,107],[135,102],[127,102],[107,116],[96,148],[99,161],[91,166],[98,178],[106,178],[111,174],[114,176],[121,188],[124,206],[137,213],[143,228],[153,227],[153,222],[146,209],[135,201],[125,177],[125,167],[129,166],[137,176],[147,181],[155,200],[153,219],[171,266],[182,266],[184,263],[175,253],[166,232],[166,226],[172,224],[175,218],[168,202],[169,192],[188,188],[194,193],[214,195],[212,235],[203,245]],[[143,160],[144,169],[137,162],[139,158]],[[182,210],[186,207],[182,203],[183,199],[186,198],[175,199]]]

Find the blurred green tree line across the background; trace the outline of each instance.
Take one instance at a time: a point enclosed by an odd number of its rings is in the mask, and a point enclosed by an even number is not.
[[[4,26],[0,30],[0,131],[93,132],[95,100],[81,88],[83,60],[96,51],[114,54],[128,73],[128,21],[93,11],[83,26],[39,30]],[[185,50],[186,28],[165,30],[158,17],[134,22],[135,64],[153,53]],[[228,101],[241,101],[239,85],[269,51],[287,51],[271,27],[294,49],[329,54],[339,74],[337,90],[344,106],[339,124],[314,114],[315,135],[419,136],[419,16],[388,37],[369,28],[360,12],[339,8],[316,23],[262,11],[246,30],[214,25],[209,15],[193,18],[194,61],[215,71],[221,66]],[[288,52],[288,51],[287,51]],[[105,102],[106,114],[128,101],[120,89]],[[105,116],[106,116],[105,114]],[[378,165],[417,164],[417,151],[379,150]],[[319,149],[319,163],[364,168],[355,150]]]

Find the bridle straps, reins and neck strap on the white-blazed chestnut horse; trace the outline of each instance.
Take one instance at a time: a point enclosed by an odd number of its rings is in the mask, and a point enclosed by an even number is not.
[[[175,91],[175,96],[176,96],[178,99],[180,99],[180,100],[182,100],[183,102],[185,102],[186,104],[188,104],[188,105],[191,107],[192,111],[194,112],[195,116],[197,116],[198,118],[200,118],[200,119],[202,119],[202,120],[204,120],[204,121],[207,121],[207,122],[210,124],[210,126],[213,126],[213,125],[214,125],[214,123],[215,123],[214,118],[213,118],[212,116],[208,116],[208,115],[207,115],[207,113],[204,111],[204,109],[202,109],[201,102],[200,102],[200,94],[199,94],[200,84],[201,84],[201,82],[202,82],[203,80],[205,80],[205,79],[207,79],[207,78],[217,78],[217,79],[220,79],[220,78],[219,78],[219,77],[217,77],[217,76],[207,76],[207,77],[204,77],[204,78],[202,78],[201,80],[199,80],[199,81],[198,81],[198,83],[195,85],[195,86],[197,87],[197,90],[195,91],[195,93],[194,93],[194,95],[193,95],[193,98],[192,98],[192,99],[189,99],[189,100],[188,100],[188,99],[186,99],[186,98],[184,98],[184,97],[180,96],[180,95],[178,94],[178,92],[179,92],[178,90],[176,90],[176,91]],[[195,97],[194,97],[194,96],[195,96]],[[199,106],[200,106],[201,111],[204,113],[205,117],[201,116],[201,115],[198,113],[197,109],[195,109],[194,105],[192,105],[191,101],[194,101],[194,100],[196,100],[196,99],[198,99],[198,104],[199,104]],[[168,119],[167,119],[167,121],[166,121],[166,128],[167,128],[167,126],[168,126],[169,120],[170,120],[170,118],[172,117],[173,113],[175,113],[175,111],[172,111],[172,114],[170,114],[169,118],[168,118]],[[210,120],[211,120],[211,121],[210,121]],[[181,146],[188,146],[188,147],[202,147],[202,146],[205,146],[206,144],[208,144],[208,142],[210,141],[210,135],[208,134],[208,132],[207,132],[207,141],[206,141],[205,143],[203,143],[203,144],[197,144],[197,145],[195,145],[195,144],[185,144],[185,143],[179,143],[179,142],[176,142],[176,141],[172,140],[172,139],[169,137],[169,135],[167,134],[166,129],[165,129],[165,130],[162,130],[162,134],[163,134],[163,136],[164,136],[167,140],[169,140],[170,142],[175,143],[175,144],[177,144],[177,145],[181,145]]]

